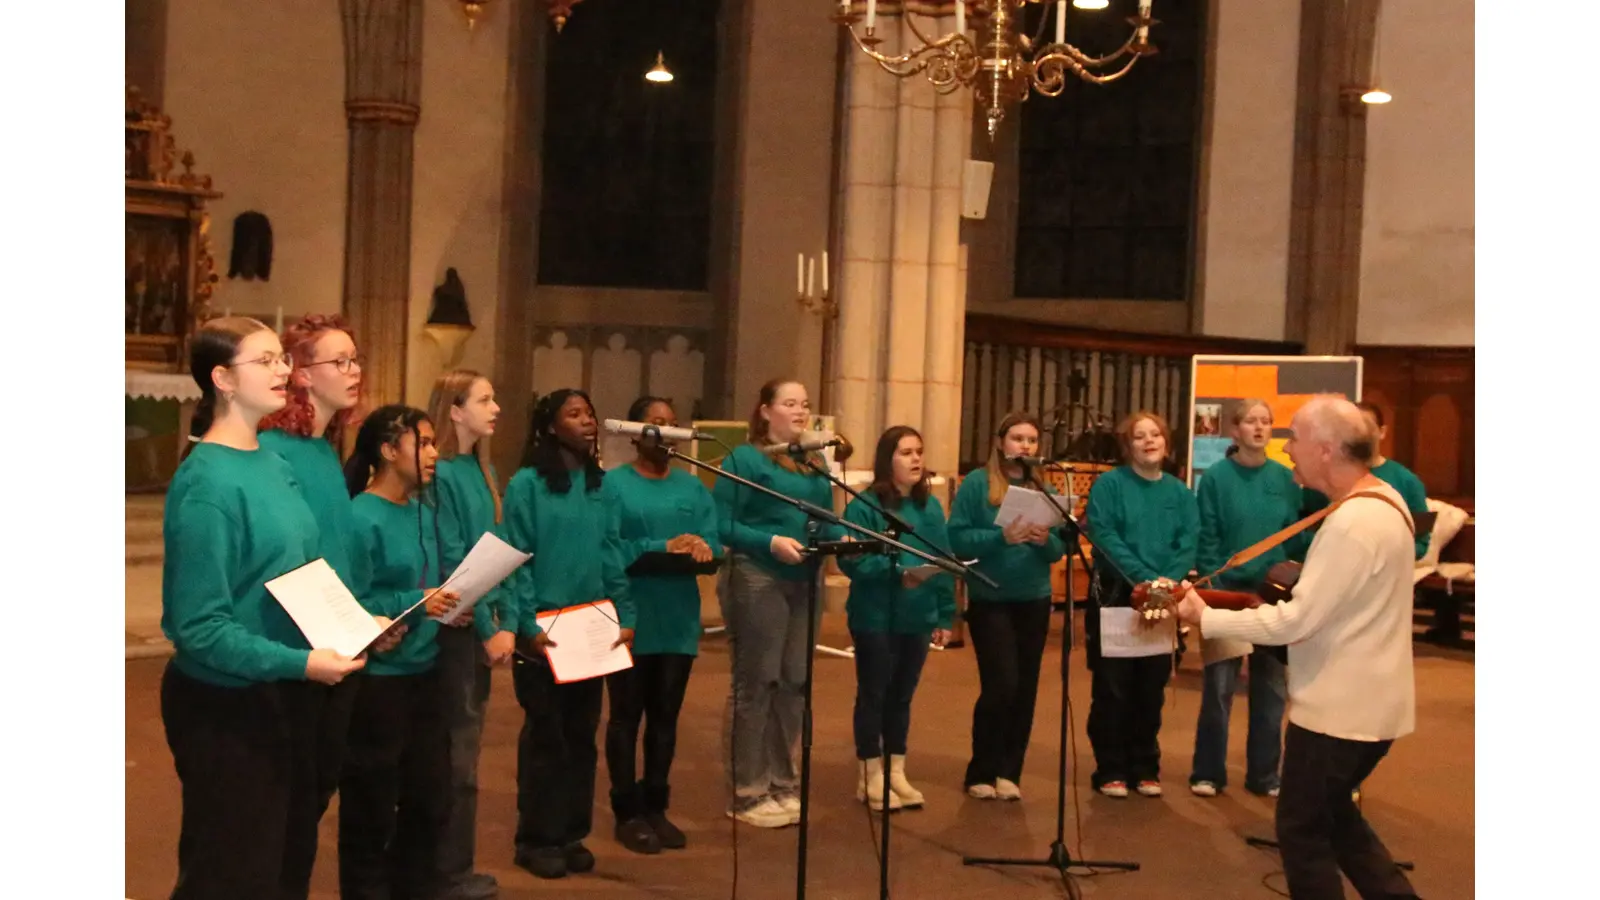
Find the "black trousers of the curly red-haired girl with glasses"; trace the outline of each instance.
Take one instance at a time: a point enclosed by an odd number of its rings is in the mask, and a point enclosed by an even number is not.
[[[282,884],[285,900],[304,900],[310,895],[310,873],[317,865],[317,826],[339,790],[360,677],[334,685],[285,681],[278,682],[278,690],[296,746]]]

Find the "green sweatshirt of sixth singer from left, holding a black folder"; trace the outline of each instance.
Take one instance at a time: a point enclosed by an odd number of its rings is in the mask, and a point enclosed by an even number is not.
[[[699,535],[722,556],[717,504],[698,477],[669,469],[667,477],[653,479],[622,466],[606,472],[600,493],[618,511],[624,570],[646,552],[667,552],[667,541],[678,535]],[[637,617],[634,653],[699,653],[704,629],[693,575],[630,575],[627,593]]]

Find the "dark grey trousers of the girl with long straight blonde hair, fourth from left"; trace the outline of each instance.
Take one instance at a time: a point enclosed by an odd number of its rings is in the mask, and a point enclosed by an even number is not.
[[[445,730],[450,733],[450,804],[438,839],[438,874],[462,882],[472,874],[478,833],[478,749],[483,709],[490,700],[490,668],[474,628],[438,629],[438,679]]]

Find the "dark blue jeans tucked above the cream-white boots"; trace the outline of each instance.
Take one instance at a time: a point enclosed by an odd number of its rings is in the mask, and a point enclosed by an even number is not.
[[[851,631],[850,637],[856,642],[856,759],[883,756],[885,745],[891,756],[904,756],[930,636]]]

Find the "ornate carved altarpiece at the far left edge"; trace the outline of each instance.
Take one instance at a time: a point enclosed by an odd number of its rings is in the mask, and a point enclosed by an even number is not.
[[[184,372],[189,340],[213,317],[206,202],[221,197],[195,175],[194,154],[178,157],[171,117],[128,86],[126,277],[123,301],[128,368]],[[182,171],[174,173],[174,165]]]

